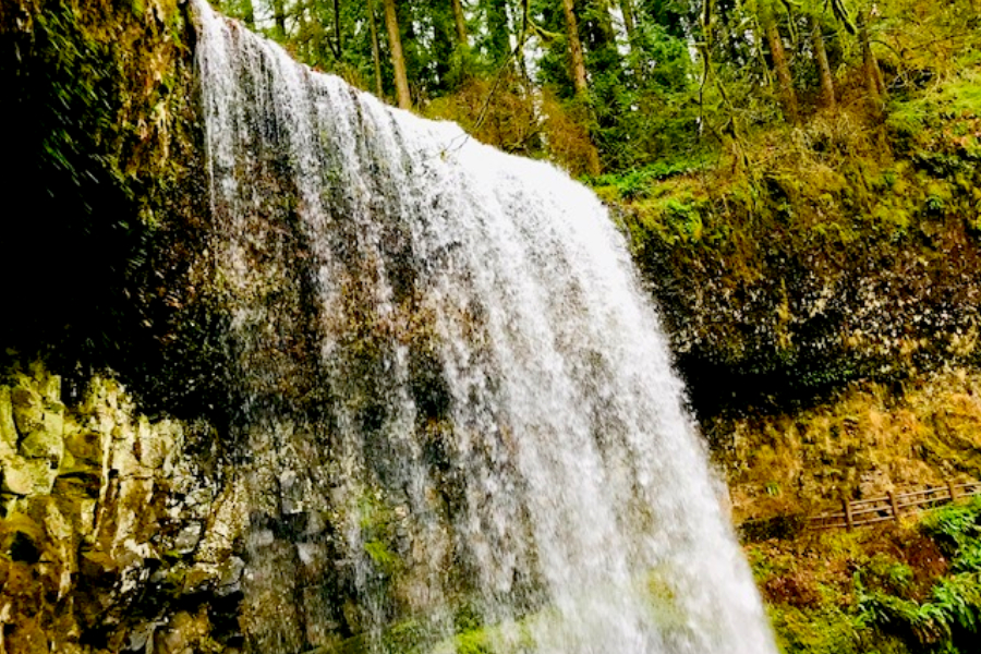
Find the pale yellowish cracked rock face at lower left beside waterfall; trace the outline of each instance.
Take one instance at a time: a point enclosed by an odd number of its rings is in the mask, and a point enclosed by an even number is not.
[[[40,365],[4,382],[0,652],[234,645],[244,511],[232,480],[184,456],[207,425],[152,421],[110,379],[68,407]]]

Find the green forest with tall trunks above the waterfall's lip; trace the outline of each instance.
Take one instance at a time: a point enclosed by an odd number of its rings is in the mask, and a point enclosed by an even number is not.
[[[214,0],[298,59],[573,174],[670,174],[977,64],[978,0]]]

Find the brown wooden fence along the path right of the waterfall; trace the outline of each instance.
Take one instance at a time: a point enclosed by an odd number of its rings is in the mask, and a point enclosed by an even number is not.
[[[945,486],[912,491],[910,493],[889,493],[885,497],[843,500],[841,511],[811,516],[808,518],[808,528],[855,529],[856,526],[876,524],[887,520],[899,520],[901,516],[930,510],[952,502],[959,497],[971,495],[981,495],[981,482],[967,484],[947,482]]]

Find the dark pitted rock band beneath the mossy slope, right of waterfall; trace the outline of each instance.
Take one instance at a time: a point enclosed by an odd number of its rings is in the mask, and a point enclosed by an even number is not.
[[[759,234],[772,252],[751,264],[707,249],[652,255],[649,278],[700,417],[782,410],[856,379],[976,364],[981,247],[958,220],[929,245],[836,251]],[[740,276],[740,265],[758,270]]]

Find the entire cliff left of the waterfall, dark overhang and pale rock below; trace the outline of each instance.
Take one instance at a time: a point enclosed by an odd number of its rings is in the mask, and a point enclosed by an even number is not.
[[[177,0],[0,2],[4,654],[240,639],[193,47]]]

